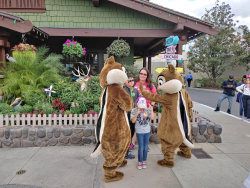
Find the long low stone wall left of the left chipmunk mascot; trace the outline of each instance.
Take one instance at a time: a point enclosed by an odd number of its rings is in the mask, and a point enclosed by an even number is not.
[[[0,147],[77,146],[95,144],[95,126],[6,127],[0,129]]]

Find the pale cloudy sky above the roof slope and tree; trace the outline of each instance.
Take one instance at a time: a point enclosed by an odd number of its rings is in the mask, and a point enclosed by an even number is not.
[[[173,10],[201,18],[208,10],[215,6],[216,0],[150,0],[152,3],[171,8]],[[250,28],[250,0],[224,0],[231,6],[231,11],[235,14],[235,20],[239,20],[239,25],[247,25]]]

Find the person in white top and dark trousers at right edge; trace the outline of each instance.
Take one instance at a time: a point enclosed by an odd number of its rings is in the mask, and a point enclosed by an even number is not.
[[[242,96],[242,102],[243,102],[243,108],[244,108],[244,116],[242,120],[250,123],[250,75],[246,76],[246,82],[245,84],[242,84],[241,86],[238,86],[236,90],[243,94]]]

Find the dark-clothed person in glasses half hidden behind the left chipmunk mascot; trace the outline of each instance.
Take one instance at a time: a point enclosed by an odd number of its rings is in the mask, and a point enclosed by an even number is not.
[[[131,99],[133,100],[134,102],[134,108],[136,107],[136,101],[139,97],[139,92],[136,88],[134,88],[134,77],[133,75],[128,75],[128,81],[125,82],[125,91],[129,94],[129,96],[131,97]],[[129,125],[130,125],[130,131],[131,131],[131,141],[132,141],[132,138],[134,136],[134,133],[135,133],[135,124],[131,121],[130,119],[130,116],[131,116],[131,111],[128,112],[128,120],[129,120]],[[131,142],[132,144],[132,142]],[[134,159],[135,156],[132,155],[130,152],[129,152],[129,149],[127,151],[127,154],[125,155],[125,159]]]

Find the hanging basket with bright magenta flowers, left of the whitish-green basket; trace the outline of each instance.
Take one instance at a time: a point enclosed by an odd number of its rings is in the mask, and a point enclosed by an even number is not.
[[[62,53],[64,56],[82,57],[86,54],[86,48],[83,48],[82,45],[77,41],[71,41],[67,39],[63,44]]]

